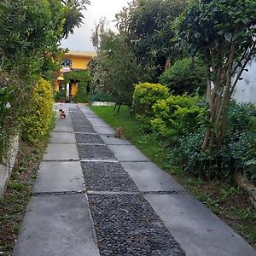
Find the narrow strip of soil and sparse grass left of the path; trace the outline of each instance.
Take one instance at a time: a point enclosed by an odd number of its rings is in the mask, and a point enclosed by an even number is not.
[[[37,178],[38,167],[49,143],[49,134],[55,126],[53,116],[49,131],[37,145],[20,140],[19,152],[5,194],[0,198],[0,255],[12,255],[20,232],[22,219],[32,195],[32,186]]]

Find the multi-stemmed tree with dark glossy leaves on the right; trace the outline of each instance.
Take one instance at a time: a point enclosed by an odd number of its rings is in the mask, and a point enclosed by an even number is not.
[[[177,20],[177,35],[207,65],[209,120],[201,151],[221,148],[230,98],[256,53],[256,2],[197,0]]]

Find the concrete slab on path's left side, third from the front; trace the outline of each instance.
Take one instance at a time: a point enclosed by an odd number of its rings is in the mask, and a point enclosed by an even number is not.
[[[77,145],[49,143],[43,160],[79,160]]]

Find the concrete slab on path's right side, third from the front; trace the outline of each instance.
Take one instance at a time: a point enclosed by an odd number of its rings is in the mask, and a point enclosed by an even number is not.
[[[149,161],[148,158],[141,153],[133,145],[108,145],[113,154],[119,161]]]

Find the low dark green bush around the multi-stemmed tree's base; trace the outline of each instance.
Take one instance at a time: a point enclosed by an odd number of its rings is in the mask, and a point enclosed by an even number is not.
[[[209,179],[232,181],[235,172],[256,182],[256,108],[251,104],[230,105],[224,146],[217,152],[201,153],[204,125],[193,133],[180,137],[169,154],[173,166]]]

